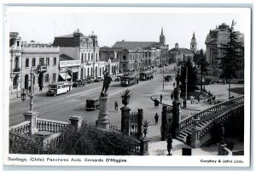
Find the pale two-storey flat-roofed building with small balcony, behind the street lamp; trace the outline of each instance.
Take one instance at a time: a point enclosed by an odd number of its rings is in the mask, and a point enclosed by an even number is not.
[[[60,48],[47,44],[30,42],[22,43],[21,87],[30,87],[30,72],[34,70],[33,82],[35,88],[43,87],[58,80]],[[37,86],[38,84],[38,86]]]

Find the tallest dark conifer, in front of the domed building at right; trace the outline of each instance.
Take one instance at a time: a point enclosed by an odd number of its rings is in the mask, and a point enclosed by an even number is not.
[[[229,80],[229,98],[230,98],[230,82],[232,78],[237,77],[237,72],[242,70],[243,65],[243,48],[240,42],[238,42],[238,31],[234,31],[236,22],[232,20],[231,27],[229,29],[228,42],[226,44],[220,44],[218,48],[222,52],[222,56],[218,59],[220,63],[218,67],[222,70],[220,78]]]

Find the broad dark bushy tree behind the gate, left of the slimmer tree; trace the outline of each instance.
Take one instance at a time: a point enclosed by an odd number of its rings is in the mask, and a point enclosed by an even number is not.
[[[184,91],[186,85],[186,67],[188,67],[188,92],[194,92],[196,89],[198,89],[198,87],[196,87],[198,78],[196,67],[192,64],[190,59],[184,61],[181,65],[181,89]]]

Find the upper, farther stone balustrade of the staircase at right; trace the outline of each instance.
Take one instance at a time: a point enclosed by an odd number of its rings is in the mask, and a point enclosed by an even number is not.
[[[205,109],[195,115],[189,115],[187,118],[184,118],[179,122],[179,131],[183,132],[186,129],[191,128],[192,126],[191,123],[194,116],[199,118],[200,122],[208,121],[210,119],[213,120],[214,117],[220,115],[221,113],[224,113],[229,109],[236,108],[237,106],[241,106],[242,104],[244,104],[244,96],[241,96],[238,98],[232,98],[220,104],[216,104],[211,108]]]

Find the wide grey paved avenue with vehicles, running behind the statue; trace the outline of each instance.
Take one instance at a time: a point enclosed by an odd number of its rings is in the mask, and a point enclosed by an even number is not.
[[[170,68],[170,67],[169,67]],[[166,85],[171,85],[171,82],[166,82]],[[131,101],[128,105],[131,111],[137,111],[138,108],[144,109],[144,118],[154,117],[151,113],[154,109],[154,104],[150,100],[151,96],[162,87],[162,74],[160,70],[154,74],[152,81],[140,81],[139,84],[133,85],[131,90]],[[117,101],[119,108],[121,104],[121,93],[125,87],[120,87],[119,82],[112,81],[108,88],[108,113],[110,124],[120,126],[121,113],[120,110],[114,110],[114,101]],[[34,110],[39,112],[38,117],[56,121],[68,121],[72,115],[81,115],[84,121],[95,123],[98,116],[98,110],[85,111],[84,105],[86,98],[98,97],[102,90],[102,82],[93,83],[84,87],[73,87],[71,93],[61,94],[56,97],[47,97],[45,92],[35,94],[33,100]],[[168,92],[169,93],[169,92]],[[159,96],[156,96],[159,98]],[[165,96],[164,96],[165,98]],[[24,121],[24,113],[29,108],[29,98],[25,102],[15,101],[9,104],[9,126],[16,125]],[[146,115],[145,115],[146,114]]]

